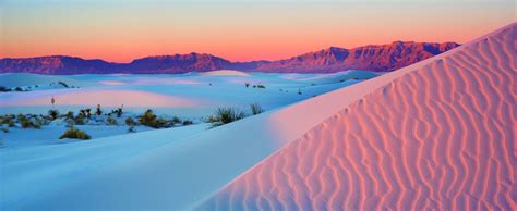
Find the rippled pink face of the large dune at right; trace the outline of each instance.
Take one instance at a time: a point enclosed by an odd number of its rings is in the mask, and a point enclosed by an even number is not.
[[[199,209],[515,209],[516,40],[514,23],[346,88],[378,86]],[[338,94],[358,95],[321,98]]]

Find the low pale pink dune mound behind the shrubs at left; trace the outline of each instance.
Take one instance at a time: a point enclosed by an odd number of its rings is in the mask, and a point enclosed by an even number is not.
[[[49,105],[51,96],[0,102],[0,105]],[[136,90],[76,90],[53,95],[58,105],[191,107],[199,100]]]

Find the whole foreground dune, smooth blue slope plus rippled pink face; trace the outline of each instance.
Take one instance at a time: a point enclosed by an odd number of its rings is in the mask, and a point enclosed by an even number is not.
[[[101,169],[65,145],[2,160],[0,183],[19,188],[0,209],[515,208],[516,27]]]

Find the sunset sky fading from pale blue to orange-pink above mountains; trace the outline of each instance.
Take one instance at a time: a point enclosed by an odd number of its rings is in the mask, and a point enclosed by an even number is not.
[[[276,60],[330,46],[466,42],[515,21],[515,0],[0,0],[0,58]]]

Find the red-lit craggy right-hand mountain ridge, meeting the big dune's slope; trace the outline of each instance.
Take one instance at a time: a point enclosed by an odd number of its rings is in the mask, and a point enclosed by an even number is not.
[[[455,42],[428,44],[395,41],[353,49],[330,47],[287,60],[257,66],[253,71],[289,73],[330,73],[344,70],[394,71],[458,47]]]

